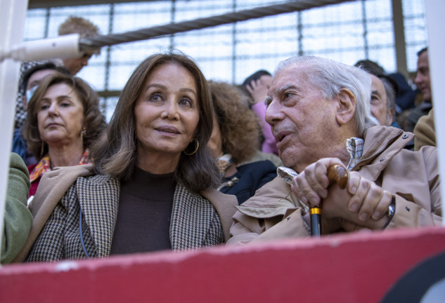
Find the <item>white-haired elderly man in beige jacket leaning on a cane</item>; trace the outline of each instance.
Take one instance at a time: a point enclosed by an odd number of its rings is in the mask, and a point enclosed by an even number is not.
[[[280,62],[266,121],[284,168],[238,206],[229,243],[308,236],[309,205],[322,203],[322,234],[441,224],[437,149],[403,147],[412,134],[377,126],[370,77],[323,58]],[[349,170],[346,188],[328,168]]]

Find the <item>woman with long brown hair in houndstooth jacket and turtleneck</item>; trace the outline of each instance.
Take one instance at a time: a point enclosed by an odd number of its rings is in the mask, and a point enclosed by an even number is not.
[[[224,243],[236,199],[213,189],[219,175],[206,147],[211,133],[212,100],[195,62],[179,54],[141,62],[92,149],[94,175],[79,173],[88,177],[77,177],[63,194],[27,260]],[[73,170],[59,173],[58,184],[69,183],[63,175]],[[42,196],[54,182],[45,183]]]

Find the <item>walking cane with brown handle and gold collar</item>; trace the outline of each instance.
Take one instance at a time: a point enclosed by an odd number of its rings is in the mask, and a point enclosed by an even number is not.
[[[348,182],[348,171],[343,166],[334,164],[328,168],[328,179],[329,184],[337,182],[341,189],[345,189]],[[321,203],[318,206],[310,205],[309,215],[311,217],[311,235],[318,237],[321,235]]]

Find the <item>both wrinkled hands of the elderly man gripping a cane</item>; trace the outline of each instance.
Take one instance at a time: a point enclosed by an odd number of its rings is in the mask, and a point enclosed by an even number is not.
[[[297,198],[308,206],[323,201],[322,217],[326,219],[338,217],[361,227],[383,227],[392,194],[357,172],[349,173],[346,189],[330,185],[328,168],[335,164],[344,166],[340,159],[325,158],[299,173],[292,180],[292,191]]]

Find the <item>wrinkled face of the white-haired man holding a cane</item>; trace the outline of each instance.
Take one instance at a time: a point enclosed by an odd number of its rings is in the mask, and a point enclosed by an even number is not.
[[[337,102],[323,97],[304,65],[287,67],[274,76],[266,105],[266,121],[284,166],[301,172],[330,154]]]

